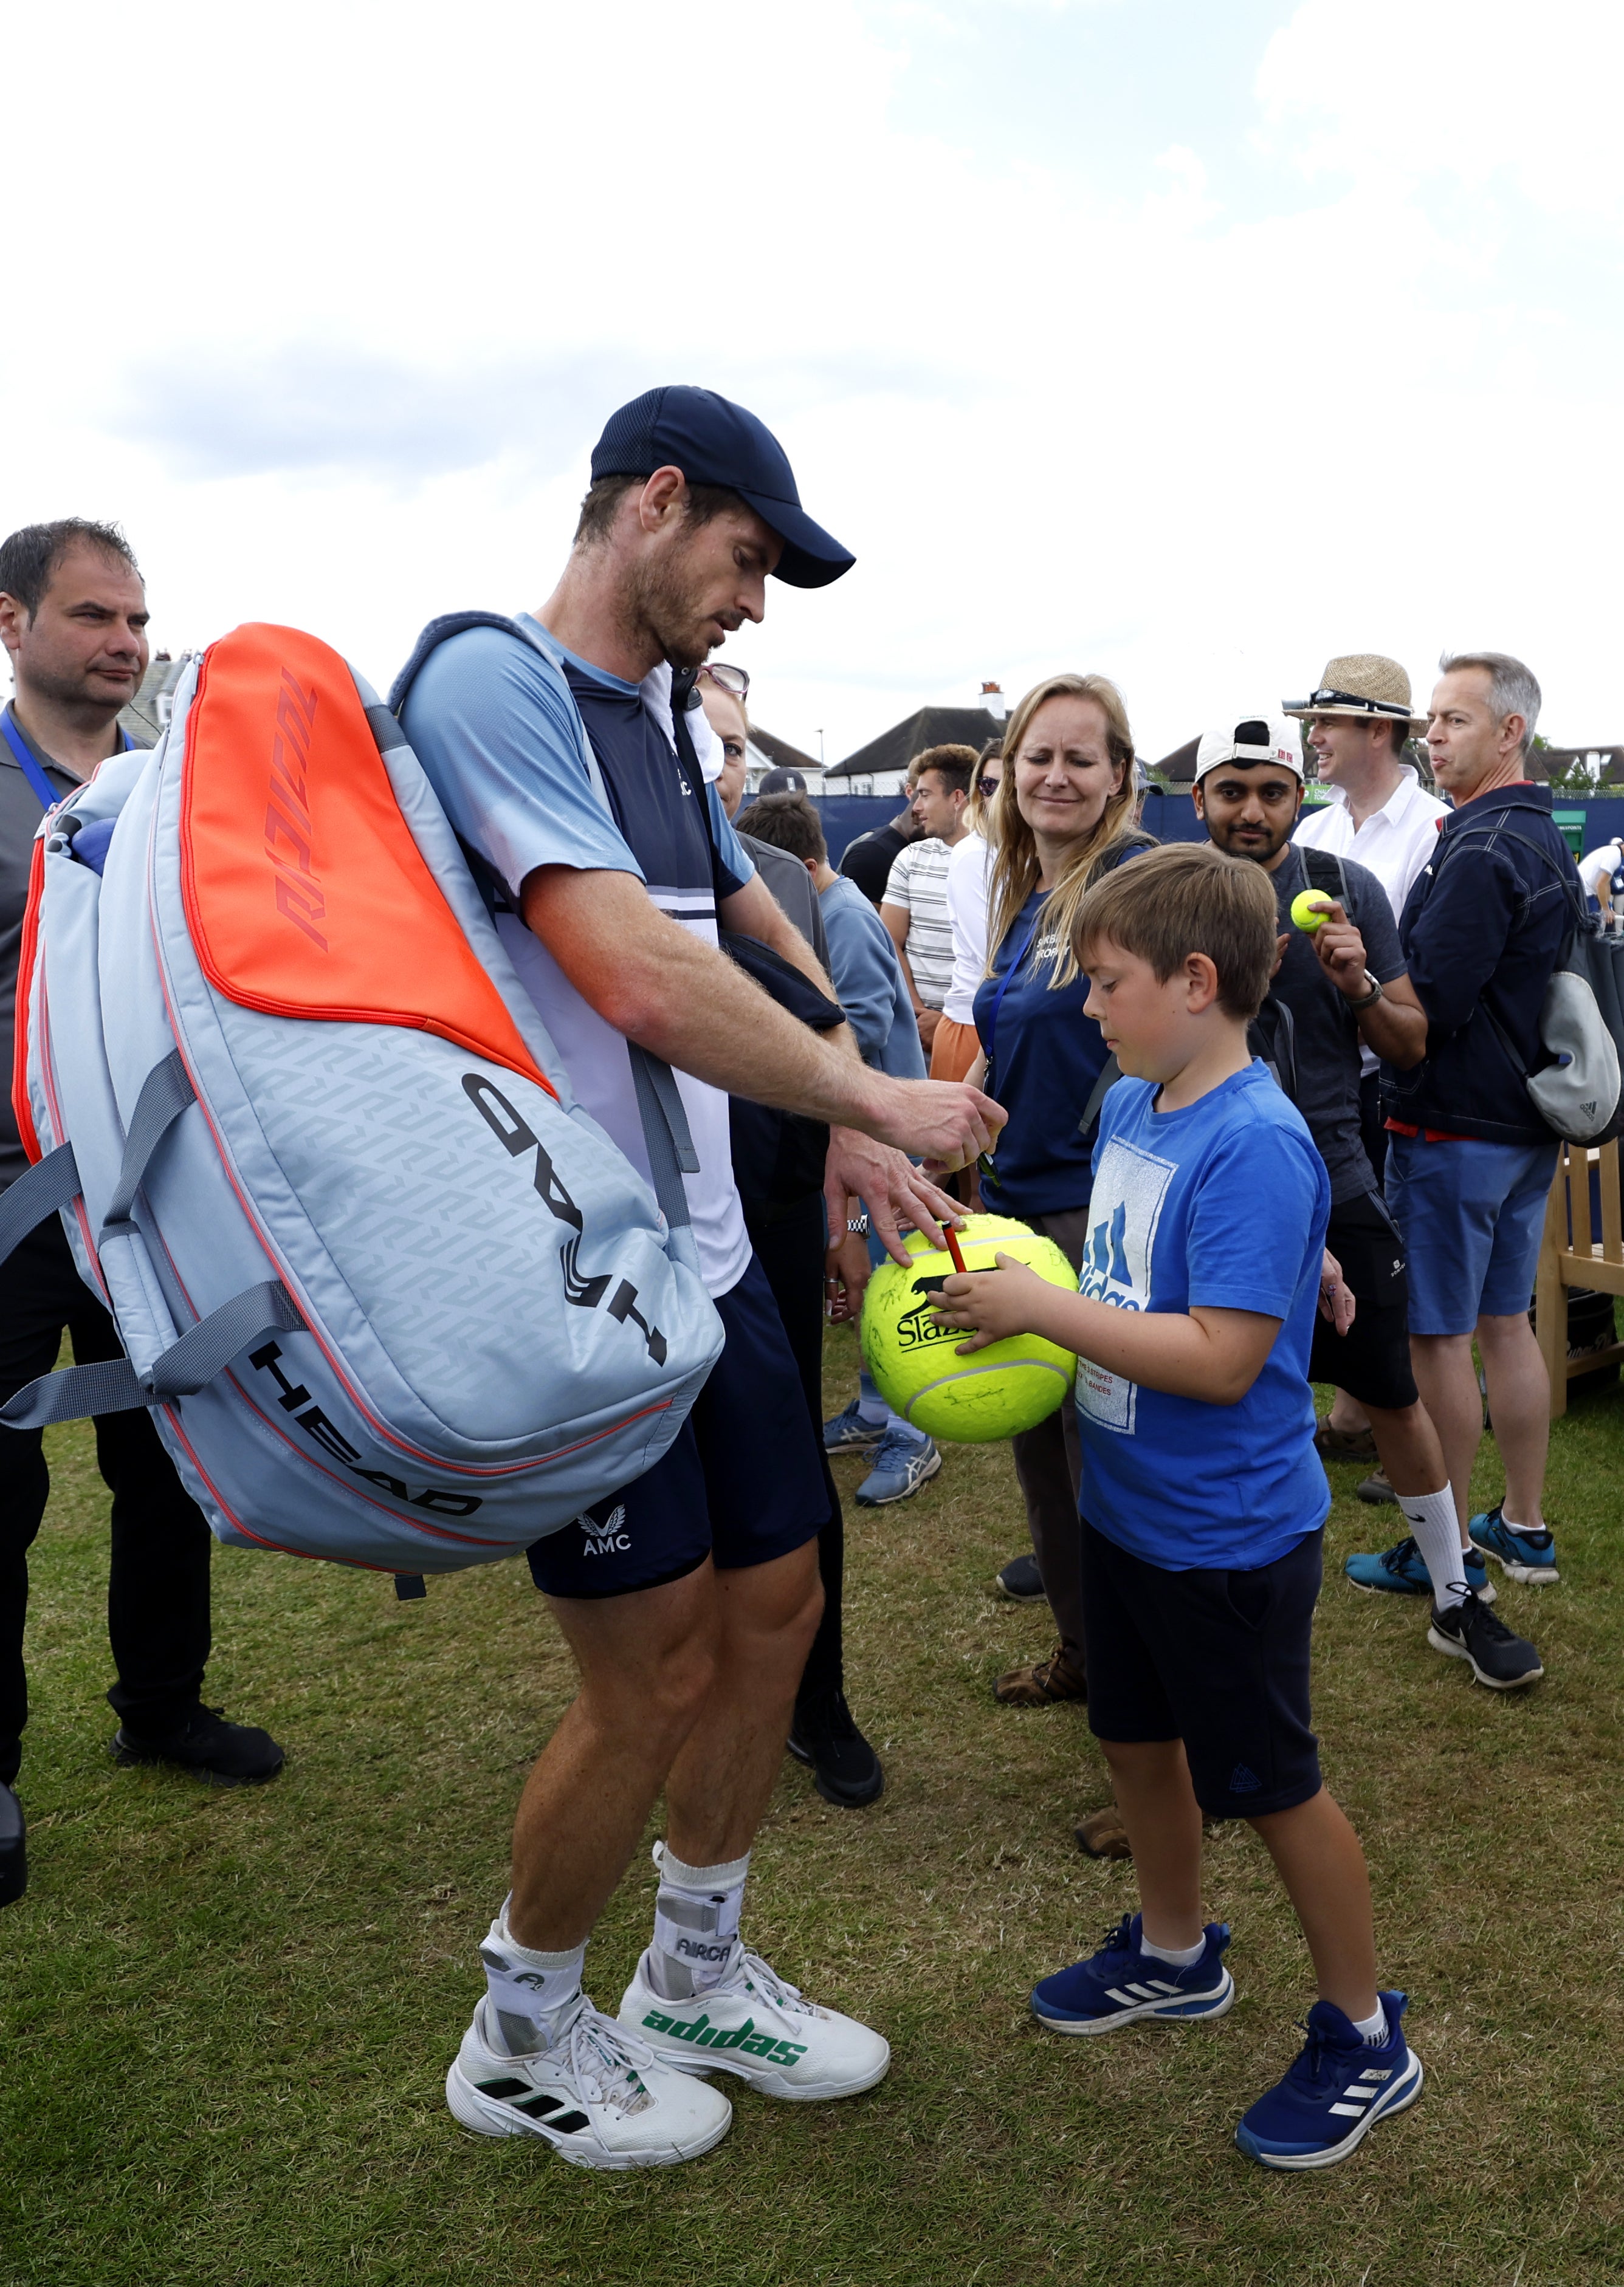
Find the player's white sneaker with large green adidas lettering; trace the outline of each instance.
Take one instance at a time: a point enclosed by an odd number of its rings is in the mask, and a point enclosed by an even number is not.
[[[737,1949],[721,1985],[693,2001],[666,2001],[647,1976],[647,1953],[620,2001],[620,2022],[661,2065],[679,2072],[737,2072],[766,2097],[812,2104],[855,2097],[890,2072],[890,2042],[819,2008],[787,1985],[759,1953]]]

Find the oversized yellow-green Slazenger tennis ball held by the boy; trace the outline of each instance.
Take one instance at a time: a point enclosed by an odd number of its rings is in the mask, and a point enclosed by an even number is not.
[[[1050,1285],[1077,1292],[1077,1274],[1054,1240],[1002,1214],[972,1214],[958,1233],[958,1251],[970,1272],[995,1269],[1004,1253],[1032,1265]],[[862,1363],[885,1404],[926,1436],[956,1445],[988,1445],[1036,1429],[1070,1397],[1073,1354],[1036,1333],[1016,1333],[961,1358],[958,1345],[968,1338],[931,1310],[931,1294],[954,1276],[952,1256],[926,1242],[915,1251],[915,1240],[908,1253],[908,1269],[883,1262],[862,1297]]]

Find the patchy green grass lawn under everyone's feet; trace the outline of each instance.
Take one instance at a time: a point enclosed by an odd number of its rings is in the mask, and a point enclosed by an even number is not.
[[[849,1338],[830,1338],[830,1400]],[[1551,2287],[1624,2278],[1617,1894],[1624,1395],[1555,1427],[1562,1583],[1505,1585],[1546,1681],[1496,1697],[1425,1649],[1416,1603],[1354,1594],[1338,1468],[1317,1621],[1327,1775],[1411,1992],[1414,2113],[1345,2168],[1272,2177],[1231,2145],[1288,2063],[1308,1965],[1263,1850],[1210,1836],[1233,2013],[1105,2042],[1025,1994],[1132,1900],[1073,1820],[1107,1798],[1077,1708],[988,1683],[1048,1649],[988,1594],[1025,1537],[1002,1448],[954,1450],[903,1509],[851,1509],[849,1670],[890,1784],[830,1811],[785,1766],[748,1935],[883,2026],[894,2070],[844,2106],[741,2093],[727,2143],[590,2177],[455,2129],[441,2079],[480,1990],[524,1770],[570,1695],[519,1567],[400,1605],[382,1580],[220,1553],[210,1699],[288,1768],[208,1791],[117,1770],[105,1496],[53,1432],[34,1557],[30,1896],[0,1917],[0,2280],[11,2287]],[[858,1464],[839,1464],[844,1487]],[[1482,1487],[1498,1491],[1494,1448]],[[640,1859],[588,1955],[608,2008],[647,1935]]]

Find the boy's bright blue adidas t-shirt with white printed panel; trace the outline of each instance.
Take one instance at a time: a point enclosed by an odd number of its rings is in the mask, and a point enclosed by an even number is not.
[[[1331,1182],[1258,1061],[1183,1111],[1155,1111],[1155,1098],[1148,1079],[1105,1098],[1082,1292],[1121,1310],[1260,1310],[1281,1331],[1233,1407],[1080,1358],[1077,1505],[1162,1571],[1251,1571],[1331,1507],[1308,1390]]]

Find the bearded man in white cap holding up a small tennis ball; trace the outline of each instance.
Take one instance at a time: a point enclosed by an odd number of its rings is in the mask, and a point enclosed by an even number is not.
[[[1427,1015],[1382,883],[1361,864],[1299,851],[1290,835],[1301,807],[1304,764],[1297,725],[1249,718],[1208,732],[1196,750],[1196,814],[1231,858],[1251,858],[1274,876],[1281,965],[1263,1009],[1263,1047],[1295,1100],[1331,1178],[1327,1253],[1345,1274],[1356,1310],[1338,1333],[1320,1315],[1311,1379],[1347,1390],[1370,1416],[1382,1468],[1398,1493],[1411,1539],[1382,1557],[1350,1557],[1356,1587],[1391,1587],[1354,1567],[1416,1564],[1439,1617],[1466,1647],[1473,1674],[1496,1690],[1533,1683],[1544,1670],[1533,1644],[1489,1612],[1482,1555],[1462,1548],[1439,1434],[1420,1404],[1409,1363],[1404,1249],[1370,1171],[1359,1130],[1359,1050],[1409,1070],[1427,1052]],[[1336,892],[1308,864],[1336,874]],[[1304,931],[1292,903],[1322,899],[1324,919]],[[1267,1212],[1267,1203],[1263,1203]],[[1430,1637],[1432,1640],[1432,1637]]]

